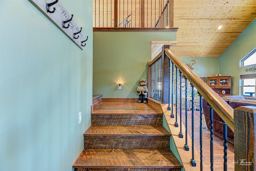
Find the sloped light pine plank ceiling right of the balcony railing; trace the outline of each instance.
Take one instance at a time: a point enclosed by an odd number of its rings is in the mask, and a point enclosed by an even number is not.
[[[171,50],[177,56],[218,57],[255,18],[256,0],[174,0],[178,43]]]

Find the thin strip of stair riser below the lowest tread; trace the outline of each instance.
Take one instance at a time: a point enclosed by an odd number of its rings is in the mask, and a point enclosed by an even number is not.
[[[181,171],[180,168],[78,168],[74,171]]]

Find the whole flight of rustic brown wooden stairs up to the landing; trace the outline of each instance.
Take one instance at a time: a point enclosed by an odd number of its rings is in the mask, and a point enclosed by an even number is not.
[[[102,100],[94,105],[92,125],[75,171],[180,171],[170,150],[162,113],[148,104]]]

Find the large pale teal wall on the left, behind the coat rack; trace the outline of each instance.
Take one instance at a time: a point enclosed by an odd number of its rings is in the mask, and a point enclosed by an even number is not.
[[[92,105],[92,1],[61,3],[89,36],[84,50],[28,0],[0,1],[1,171],[71,171],[83,149]]]

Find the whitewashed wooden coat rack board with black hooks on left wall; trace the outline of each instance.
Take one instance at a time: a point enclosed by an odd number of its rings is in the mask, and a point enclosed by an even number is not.
[[[84,50],[85,38],[82,27],[74,22],[73,14],[70,15],[59,0],[29,0],[49,20],[51,20],[66,36],[70,38],[80,49]]]

